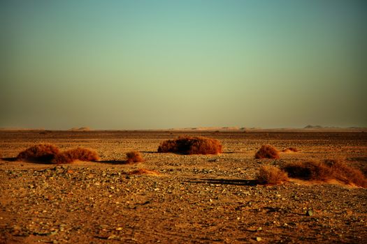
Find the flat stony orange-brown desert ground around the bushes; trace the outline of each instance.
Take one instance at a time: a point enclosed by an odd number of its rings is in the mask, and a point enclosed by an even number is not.
[[[157,153],[178,135],[221,155]],[[101,162],[17,162],[40,142],[93,148]],[[289,146],[255,160],[263,144]],[[124,165],[125,153],[145,162]],[[0,243],[366,243],[367,190],[292,180],[257,185],[261,165],[345,158],[367,172],[363,132],[0,131]],[[159,174],[134,175],[135,169]],[[305,213],[311,213],[306,215]]]

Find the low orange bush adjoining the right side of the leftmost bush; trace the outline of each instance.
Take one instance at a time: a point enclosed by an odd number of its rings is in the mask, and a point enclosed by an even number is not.
[[[52,162],[55,164],[68,164],[75,160],[98,161],[99,155],[91,149],[78,147],[57,154]]]

